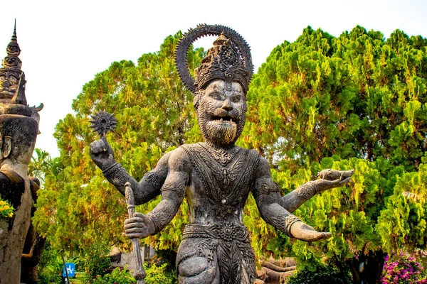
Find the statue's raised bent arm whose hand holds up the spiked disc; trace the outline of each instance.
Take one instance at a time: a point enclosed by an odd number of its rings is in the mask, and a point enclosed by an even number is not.
[[[95,164],[102,170],[102,174],[114,185],[117,190],[125,196],[125,183],[130,182],[134,192],[135,204],[144,204],[160,194],[164,180],[167,176],[167,163],[169,153],[166,153],[157,163],[154,170],[144,175],[140,182],[132,178],[125,168],[117,163],[110,144],[105,137],[90,143],[90,157]]]

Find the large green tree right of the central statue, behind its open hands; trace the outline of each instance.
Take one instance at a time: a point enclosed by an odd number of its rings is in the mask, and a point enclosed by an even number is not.
[[[270,160],[283,193],[325,168],[355,173],[352,187],[295,213],[330,241],[290,244],[248,218],[258,253],[292,245],[306,265],[326,257],[354,283],[375,283],[386,252],[425,248],[426,45],[399,30],[385,40],[360,26],[337,38],[308,27],[273,50],[251,83],[243,145]]]

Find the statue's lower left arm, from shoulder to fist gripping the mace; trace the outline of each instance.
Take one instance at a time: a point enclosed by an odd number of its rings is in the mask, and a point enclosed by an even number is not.
[[[125,220],[125,233],[128,238],[144,238],[161,231],[178,212],[184,200],[186,185],[189,180],[189,161],[183,157],[185,152],[177,148],[169,157],[169,174],[162,186],[162,201],[144,215],[135,213],[133,218]]]

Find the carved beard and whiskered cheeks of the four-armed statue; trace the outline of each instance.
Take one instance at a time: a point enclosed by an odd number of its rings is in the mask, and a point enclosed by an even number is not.
[[[219,111],[218,111],[219,110]],[[204,99],[201,99],[197,108],[197,121],[200,131],[203,134],[206,142],[214,146],[232,146],[241,135],[246,120],[246,104],[241,109],[233,109],[229,111],[231,117],[234,117],[233,122],[220,122],[220,118],[216,116],[222,109],[211,106]],[[223,121],[229,119],[223,118]]]

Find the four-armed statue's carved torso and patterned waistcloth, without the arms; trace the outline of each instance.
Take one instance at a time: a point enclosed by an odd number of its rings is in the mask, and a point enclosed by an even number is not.
[[[200,266],[206,269],[203,283],[253,283],[255,256],[243,226],[243,207],[260,154],[238,147],[214,151],[204,143],[181,147],[191,171],[186,190],[190,224],[184,229],[176,260],[179,279],[184,281],[185,266]],[[204,264],[199,263],[201,259]]]

